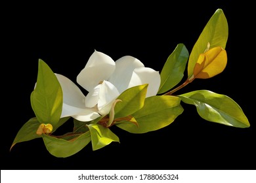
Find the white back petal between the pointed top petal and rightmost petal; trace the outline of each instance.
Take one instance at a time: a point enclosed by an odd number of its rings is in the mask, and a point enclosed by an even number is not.
[[[119,93],[121,93],[129,86],[133,70],[138,67],[144,67],[139,59],[132,56],[123,56],[117,59],[116,70],[108,81],[114,84]]]

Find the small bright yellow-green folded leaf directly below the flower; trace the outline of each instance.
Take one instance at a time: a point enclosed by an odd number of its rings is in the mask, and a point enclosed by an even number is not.
[[[91,131],[93,150],[98,150],[111,142],[119,142],[119,138],[107,127],[99,124],[87,125]]]

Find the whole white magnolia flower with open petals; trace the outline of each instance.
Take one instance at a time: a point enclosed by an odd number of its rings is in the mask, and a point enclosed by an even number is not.
[[[115,62],[96,50],[77,76],[77,83],[89,92],[86,97],[70,79],[56,76],[63,92],[61,117],[72,116],[84,122],[108,114],[117,97],[128,88],[148,84],[146,97],[150,97],[160,87],[159,72],[144,67],[139,59],[123,56]]]

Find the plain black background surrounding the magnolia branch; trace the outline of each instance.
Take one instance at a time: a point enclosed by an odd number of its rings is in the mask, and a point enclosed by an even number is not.
[[[161,71],[177,44],[185,44],[191,52],[217,8],[223,9],[228,20],[226,69],[213,78],[194,80],[177,94],[210,90],[228,95],[242,107],[251,127],[207,122],[196,107],[182,103],[184,112],[173,124],[144,134],[112,127],[121,143],[112,142],[94,152],[90,143],[70,158],[55,158],[42,139],[18,143],[9,152],[20,127],[34,116],[30,93],[39,58],[54,73],[74,82],[95,49],[114,60],[131,55],[146,67]],[[1,169],[255,169],[255,57],[248,44],[250,12],[242,5],[231,1],[152,1],[22,4],[3,9]],[[71,129],[72,122],[68,122],[60,132]]]

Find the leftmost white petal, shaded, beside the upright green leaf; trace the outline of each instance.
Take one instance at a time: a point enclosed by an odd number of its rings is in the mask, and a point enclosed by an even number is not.
[[[58,78],[58,82],[60,82],[63,93],[61,117],[72,116],[81,112],[85,108],[85,95],[66,76],[56,74],[56,77]]]

